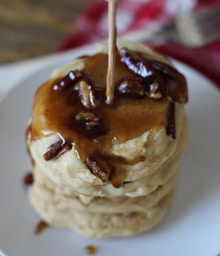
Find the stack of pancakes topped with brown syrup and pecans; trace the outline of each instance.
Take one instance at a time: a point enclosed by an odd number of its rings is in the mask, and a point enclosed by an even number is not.
[[[89,237],[158,224],[187,142],[184,77],[142,44],[118,42],[118,49],[112,106],[103,96],[104,46],[38,89],[26,136],[34,208],[48,224]]]

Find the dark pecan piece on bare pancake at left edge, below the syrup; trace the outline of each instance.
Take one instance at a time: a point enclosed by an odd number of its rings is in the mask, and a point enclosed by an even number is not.
[[[49,161],[55,157],[56,158],[59,157],[60,155],[62,155],[63,153],[65,153],[71,149],[72,149],[71,142],[59,140],[59,141],[53,143],[52,145],[50,145],[47,152],[44,154],[44,159],[46,161]]]

